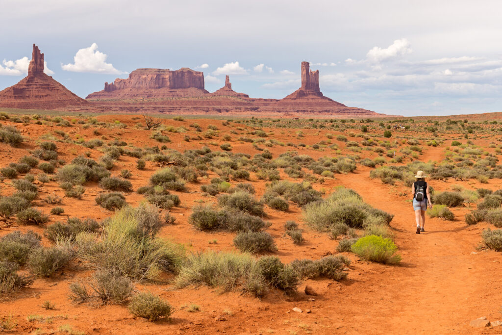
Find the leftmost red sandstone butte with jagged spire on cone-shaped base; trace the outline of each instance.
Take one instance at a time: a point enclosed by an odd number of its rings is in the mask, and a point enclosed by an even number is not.
[[[0,107],[60,109],[89,103],[44,73],[44,54],[34,44],[28,76],[0,92]]]

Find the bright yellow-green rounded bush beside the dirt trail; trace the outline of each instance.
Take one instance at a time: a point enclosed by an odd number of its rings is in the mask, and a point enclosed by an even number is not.
[[[401,262],[401,256],[396,254],[398,247],[394,242],[380,236],[362,237],[352,245],[351,249],[354,254],[367,261],[386,264]]]

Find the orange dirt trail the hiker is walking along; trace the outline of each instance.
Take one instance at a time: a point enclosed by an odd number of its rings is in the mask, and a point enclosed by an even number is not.
[[[493,299],[495,292],[491,296],[484,292],[491,300],[484,303],[479,289],[492,290],[490,282],[500,279],[487,274],[491,269],[485,268],[486,262],[481,265],[479,258],[483,256],[471,254],[475,243],[470,241],[472,234],[465,234],[470,228],[465,226],[463,216],[452,223],[427,217],[426,233],[417,235],[408,197],[395,196],[393,186],[383,185],[368,175],[369,170],[361,169],[339,184],[359,190],[364,201],[395,215],[391,226],[403,257],[402,265],[389,269],[391,284],[381,283],[375,288],[381,290],[379,294],[368,297],[368,303],[381,296],[388,300],[385,308],[368,311],[369,318],[385,320],[378,332],[470,333],[469,320],[490,312],[493,317],[500,317],[500,298]],[[495,270],[498,263],[491,264]]]

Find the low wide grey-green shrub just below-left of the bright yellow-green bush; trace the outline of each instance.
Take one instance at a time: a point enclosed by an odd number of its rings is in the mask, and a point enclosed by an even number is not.
[[[319,260],[294,260],[290,266],[298,273],[301,278],[328,278],[340,280],[347,277],[347,272],[343,269],[350,264],[350,260],[345,256],[326,256]]]

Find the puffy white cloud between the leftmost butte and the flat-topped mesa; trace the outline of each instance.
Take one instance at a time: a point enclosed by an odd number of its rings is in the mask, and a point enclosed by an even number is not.
[[[115,69],[111,63],[106,63],[106,57],[105,54],[97,50],[97,44],[92,43],[90,47],[77,51],[75,57],[73,57],[74,64],[61,64],[61,68],[65,71],[72,72],[106,74],[127,73]]]

